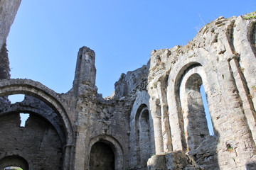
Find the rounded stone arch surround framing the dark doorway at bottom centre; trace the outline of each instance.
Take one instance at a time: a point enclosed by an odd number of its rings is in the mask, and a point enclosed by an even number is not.
[[[114,169],[123,169],[124,168],[124,152],[122,146],[119,142],[110,135],[99,135],[97,137],[92,138],[89,143],[89,152],[91,152],[92,146],[97,142],[103,142],[111,147],[114,152]]]

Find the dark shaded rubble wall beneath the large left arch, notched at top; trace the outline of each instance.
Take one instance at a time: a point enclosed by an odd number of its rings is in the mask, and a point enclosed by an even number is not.
[[[18,155],[28,160],[29,169],[62,169],[62,144],[53,126],[33,114],[25,127],[20,124],[19,113],[0,116],[0,159]]]

